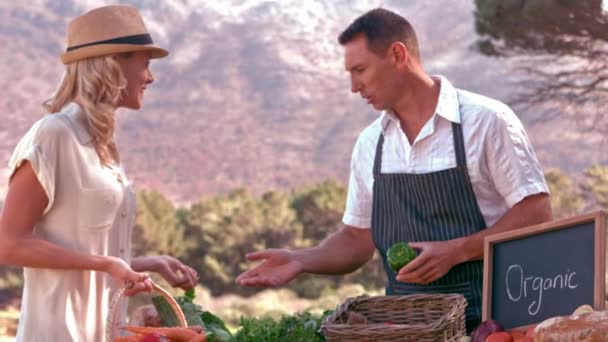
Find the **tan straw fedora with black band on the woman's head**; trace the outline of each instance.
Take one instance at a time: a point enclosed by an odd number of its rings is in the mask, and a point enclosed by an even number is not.
[[[150,51],[151,58],[169,54],[152,41],[135,7],[114,5],[94,9],[68,24],[63,64],[81,59],[131,51]]]

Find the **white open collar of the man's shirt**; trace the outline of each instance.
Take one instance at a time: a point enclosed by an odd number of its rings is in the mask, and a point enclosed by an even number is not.
[[[433,79],[439,81],[439,100],[437,101],[437,107],[435,108],[435,114],[433,119],[436,117],[442,117],[450,122],[460,123],[460,106],[458,102],[458,95],[456,88],[443,76],[431,76]],[[391,121],[399,122],[397,115],[391,110],[385,110],[382,112],[382,130],[386,130],[386,127]]]

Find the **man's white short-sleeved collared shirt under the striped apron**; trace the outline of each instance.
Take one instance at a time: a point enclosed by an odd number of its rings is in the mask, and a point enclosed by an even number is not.
[[[373,165],[380,132],[384,132],[381,172],[419,174],[456,167],[452,122],[461,123],[467,169],[488,227],[525,197],[549,192],[524,128],[508,106],[457,92],[443,77],[435,79],[441,83],[435,114],[413,144],[398,118],[388,111],[359,135],[352,154],[344,224],[371,226]]]

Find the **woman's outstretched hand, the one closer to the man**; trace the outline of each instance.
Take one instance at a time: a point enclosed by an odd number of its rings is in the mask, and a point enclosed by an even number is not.
[[[169,255],[138,257],[133,259],[133,269],[160,274],[173,287],[189,290],[198,284],[196,271]]]

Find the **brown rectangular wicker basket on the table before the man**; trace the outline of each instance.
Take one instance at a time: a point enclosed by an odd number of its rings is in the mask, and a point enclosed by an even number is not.
[[[466,333],[466,299],[460,294],[366,295],[349,298],[321,329],[328,341],[458,341]],[[368,324],[346,324],[350,312]]]

